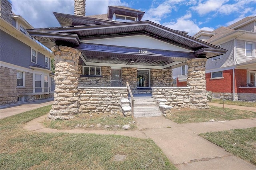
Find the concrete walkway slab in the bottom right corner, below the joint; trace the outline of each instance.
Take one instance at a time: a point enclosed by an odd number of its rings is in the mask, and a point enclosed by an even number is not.
[[[237,158],[226,156],[221,158],[192,161],[186,164],[175,165],[179,170],[255,170],[256,166]]]

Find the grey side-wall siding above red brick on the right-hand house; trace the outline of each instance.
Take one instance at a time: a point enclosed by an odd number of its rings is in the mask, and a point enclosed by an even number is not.
[[[226,54],[221,55],[221,59],[212,61],[212,58],[206,62],[206,70],[229,67],[234,65],[234,40],[220,44],[222,48],[228,50]]]

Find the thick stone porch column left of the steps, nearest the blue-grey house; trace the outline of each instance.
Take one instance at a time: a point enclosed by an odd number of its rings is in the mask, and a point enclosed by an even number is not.
[[[55,64],[54,103],[50,119],[67,120],[79,113],[78,59],[81,52],[66,46],[52,47]]]

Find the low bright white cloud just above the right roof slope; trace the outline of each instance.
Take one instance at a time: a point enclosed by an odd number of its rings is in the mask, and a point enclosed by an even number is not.
[[[203,27],[199,28],[198,25],[191,20],[192,15],[190,13],[180,17],[176,22],[167,22],[163,25],[173,30],[180,30],[188,32],[188,35],[193,36],[200,30],[213,31],[214,28]]]

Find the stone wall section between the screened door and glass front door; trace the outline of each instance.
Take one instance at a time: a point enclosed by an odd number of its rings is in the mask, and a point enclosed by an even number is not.
[[[126,87],[129,82],[131,89],[137,89],[137,68],[122,67],[122,87]]]

